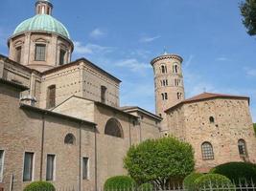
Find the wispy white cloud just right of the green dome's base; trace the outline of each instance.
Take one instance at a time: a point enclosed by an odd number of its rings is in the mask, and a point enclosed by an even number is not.
[[[111,53],[113,52],[114,48],[112,47],[104,47],[101,45],[97,45],[97,44],[91,44],[88,43],[86,45],[82,45],[81,42],[79,41],[74,41],[74,53],[77,54],[94,54],[94,53]]]

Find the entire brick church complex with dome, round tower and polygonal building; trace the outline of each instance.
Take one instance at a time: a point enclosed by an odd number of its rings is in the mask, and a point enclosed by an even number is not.
[[[151,61],[156,115],[120,106],[121,80],[89,60],[71,61],[67,29],[37,0],[35,16],[8,39],[0,54],[0,182],[20,191],[35,180],[57,189],[97,190],[127,174],[132,144],[172,135],[195,149],[197,170],[226,161],[255,162],[249,98],[204,93],[185,99],[182,58]],[[1,186],[1,184],[0,184]]]

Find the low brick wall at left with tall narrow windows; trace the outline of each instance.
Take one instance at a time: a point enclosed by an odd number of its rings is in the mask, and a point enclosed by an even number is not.
[[[89,158],[89,180],[81,180],[82,190],[95,185],[95,133],[93,126],[81,124],[66,118],[43,116],[34,110],[19,108],[19,92],[10,86],[0,86],[0,149],[5,151],[5,189],[10,186],[13,174],[13,190],[20,189],[30,182],[23,181],[23,160],[25,152],[34,153],[33,180],[46,179],[46,156],[56,155],[56,174],[53,183],[58,188],[79,186],[81,178],[81,158]],[[15,119],[13,120],[13,117]],[[64,138],[72,133],[74,145],[64,143]],[[43,151],[43,154],[41,153]],[[81,153],[81,154],[80,154]],[[42,167],[40,165],[41,155]]]

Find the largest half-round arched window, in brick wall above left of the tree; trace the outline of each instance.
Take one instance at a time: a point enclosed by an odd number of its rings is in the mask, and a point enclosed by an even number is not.
[[[124,138],[122,126],[117,119],[110,118],[107,120],[105,124],[105,135]]]

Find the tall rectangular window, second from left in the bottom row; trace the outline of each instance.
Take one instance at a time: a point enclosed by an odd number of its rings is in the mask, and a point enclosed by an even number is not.
[[[23,181],[31,181],[33,179],[33,162],[34,153],[25,153],[23,167]]]

